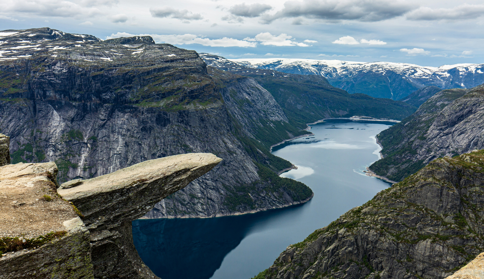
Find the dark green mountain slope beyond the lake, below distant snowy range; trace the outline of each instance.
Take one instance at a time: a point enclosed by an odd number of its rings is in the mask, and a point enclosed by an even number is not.
[[[306,123],[324,118],[354,115],[402,120],[416,110],[399,101],[358,93],[348,94],[330,85],[322,76],[247,68],[220,56],[208,53],[199,55],[208,66],[254,78],[272,94],[287,115],[289,123],[301,128],[305,128]]]

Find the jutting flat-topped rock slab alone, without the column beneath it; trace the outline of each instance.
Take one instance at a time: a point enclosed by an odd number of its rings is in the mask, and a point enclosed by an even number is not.
[[[222,159],[189,153],[148,160],[58,192],[84,215],[88,229],[110,229],[142,217],[166,196],[212,170]]]

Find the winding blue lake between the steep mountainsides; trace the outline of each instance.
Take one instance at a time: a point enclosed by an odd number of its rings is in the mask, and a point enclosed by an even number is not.
[[[281,176],[314,192],[304,204],[241,216],[133,221],[143,261],[162,279],[250,279],[290,244],[302,241],[389,184],[363,171],[378,160],[375,136],[393,123],[327,120],[315,136],[273,149],[297,170]]]

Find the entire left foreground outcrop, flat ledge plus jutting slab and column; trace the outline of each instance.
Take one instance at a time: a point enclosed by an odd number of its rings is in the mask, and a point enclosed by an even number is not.
[[[58,189],[53,162],[0,167],[0,278],[158,278],[136,252],[131,221],[220,161],[167,156]]]

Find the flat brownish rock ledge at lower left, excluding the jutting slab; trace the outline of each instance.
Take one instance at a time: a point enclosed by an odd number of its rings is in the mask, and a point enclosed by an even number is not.
[[[56,192],[55,163],[0,167],[0,278],[92,279],[89,231]]]

